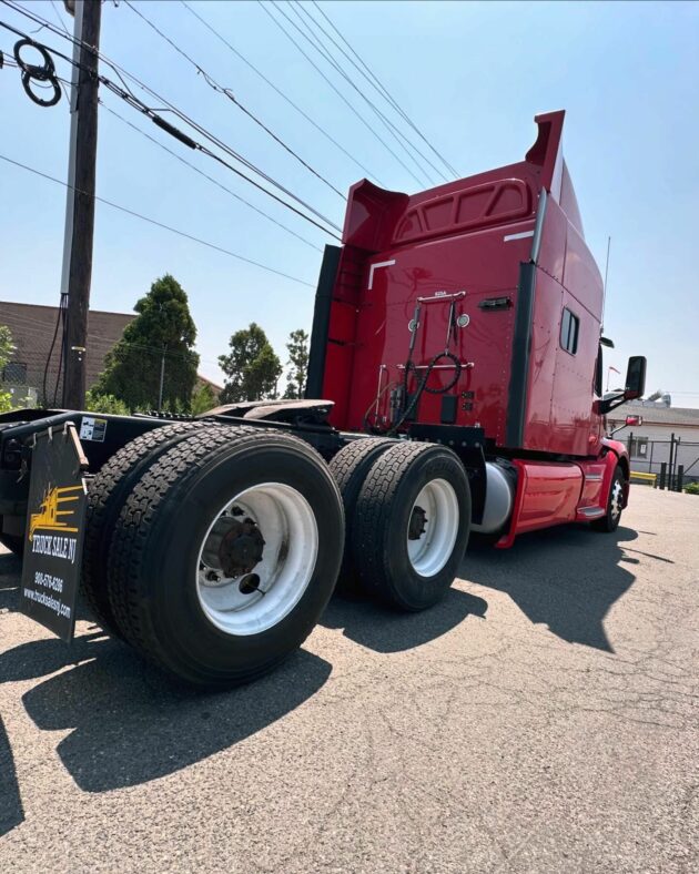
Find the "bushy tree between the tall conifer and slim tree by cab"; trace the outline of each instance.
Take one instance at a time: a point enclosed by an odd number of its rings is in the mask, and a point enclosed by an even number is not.
[[[221,369],[226,375],[221,403],[276,397],[282,363],[260,325],[251,322],[249,327],[236,331],[229,346],[231,352],[219,356]]]

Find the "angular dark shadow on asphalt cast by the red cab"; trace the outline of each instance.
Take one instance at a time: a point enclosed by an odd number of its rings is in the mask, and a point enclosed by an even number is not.
[[[510,549],[474,540],[460,576],[507,592],[531,622],[561,640],[614,652],[604,620],[636,579],[629,566],[638,559],[625,545],[637,537],[630,528],[598,533],[560,526],[523,535]]]

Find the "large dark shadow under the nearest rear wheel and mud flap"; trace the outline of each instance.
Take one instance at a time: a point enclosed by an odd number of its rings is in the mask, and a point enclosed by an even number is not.
[[[301,650],[269,677],[212,693],[171,681],[101,633],[78,638],[72,649],[41,640],[0,656],[6,680],[61,668],[68,670],[33,687],[22,701],[39,729],[72,729],[57,751],[85,792],[145,783],[229,749],[307,701],[332,670]]]

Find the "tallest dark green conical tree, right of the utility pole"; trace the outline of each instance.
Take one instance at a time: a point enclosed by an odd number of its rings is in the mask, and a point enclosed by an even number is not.
[[[196,383],[196,327],[188,296],[170,274],[156,280],[134,306],[139,314],[108,353],[94,395],[113,395],[129,409],[159,405],[163,375],[165,409],[189,409]]]

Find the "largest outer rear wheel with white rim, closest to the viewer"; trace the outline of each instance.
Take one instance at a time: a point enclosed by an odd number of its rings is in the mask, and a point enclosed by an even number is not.
[[[129,496],[109,596],[125,637],[188,682],[231,685],[296,650],[335,585],[342,501],[310,446],[220,427],[189,437]]]

